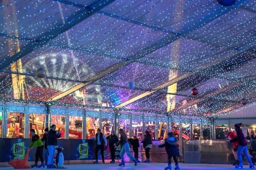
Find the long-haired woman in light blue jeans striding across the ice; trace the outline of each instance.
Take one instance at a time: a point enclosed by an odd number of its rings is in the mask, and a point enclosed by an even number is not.
[[[137,166],[137,160],[132,156],[131,152],[130,152],[130,145],[127,141],[127,137],[126,134],[124,133],[123,129],[119,129],[119,134],[120,136],[120,141],[118,142],[118,144],[116,146],[118,146],[119,144],[121,145],[122,149],[120,151],[120,157],[122,162],[119,164],[119,166],[124,166],[124,154],[126,152],[127,156],[129,156],[133,161],[134,161],[134,165]],[[116,148],[116,147],[115,147]]]

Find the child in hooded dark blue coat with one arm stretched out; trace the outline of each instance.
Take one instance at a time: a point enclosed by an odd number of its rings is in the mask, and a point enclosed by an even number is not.
[[[169,132],[168,133],[168,138],[164,140],[164,144],[159,145],[159,148],[163,148],[165,147],[166,153],[168,155],[168,166],[166,168],[164,168],[164,170],[171,170],[172,169],[172,160],[171,158],[173,158],[174,162],[175,162],[175,170],[180,170],[179,164],[178,164],[178,160],[176,156],[180,156],[180,152],[179,149],[177,147],[177,139],[174,137],[174,133]]]

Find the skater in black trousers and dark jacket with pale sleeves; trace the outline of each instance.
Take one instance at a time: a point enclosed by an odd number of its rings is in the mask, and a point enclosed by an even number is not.
[[[102,157],[102,163],[105,163],[104,160],[104,147],[108,145],[107,139],[103,133],[100,132],[100,129],[97,130],[97,133],[95,135],[96,137],[96,149],[95,149],[95,161],[93,162],[94,164],[98,164],[98,152],[100,150],[101,157]]]

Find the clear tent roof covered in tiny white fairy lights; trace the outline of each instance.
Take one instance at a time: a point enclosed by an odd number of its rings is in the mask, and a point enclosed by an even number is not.
[[[88,3],[2,2],[1,59],[76,20],[76,14],[94,5]],[[256,101],[252,97],[256,93],[255,4],[244,0],[116,0],[35,46],[21,63],[15,62],[16,68],[5,68],[37,77],[1,72],[1,97],[45,102],[80,84],[68,79],[86,82],[102,74],[95,84],[81,86],[56,103],[112,109],[127,102],[119,109],[198,119],[246,108]]]

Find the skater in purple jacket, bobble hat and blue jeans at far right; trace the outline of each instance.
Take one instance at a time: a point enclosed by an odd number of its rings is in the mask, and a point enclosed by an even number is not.
[[[243,168],[243,162],[242,162],[242,152],[244,153],[244,156],[247,158],[248,162],[250,163],[249,168],[253,169],[254,165],[252,163],[252,160],[247,152],[247,142],[245,140],[244,134],[242,133],[242,129],[240,128],[242,126],[242,123],[235,124],[235,130],[236,130],[236,138],[233,140],[230,140],[230,142],[238,141],[239,145],[237,148],[237,157],[239,160],[239,164],[236,165],[236,168]]]

